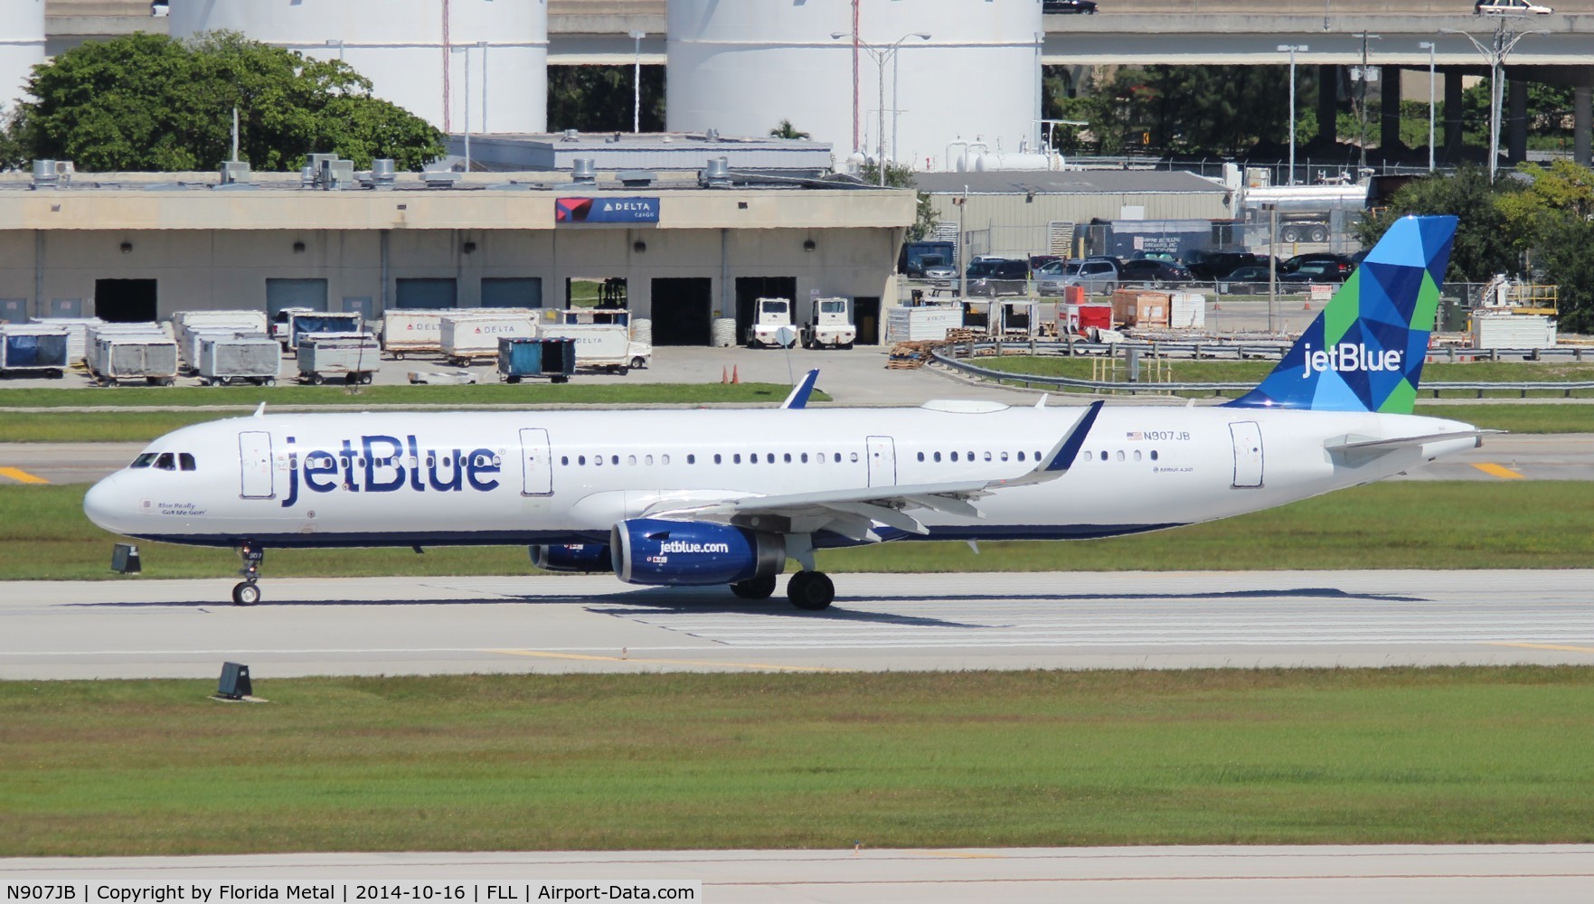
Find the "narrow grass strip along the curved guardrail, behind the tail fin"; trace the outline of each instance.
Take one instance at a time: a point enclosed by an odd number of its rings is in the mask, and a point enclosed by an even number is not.
[[[1092,379],[1093,367],[1097,367],[1100,359],[1089,357],[1063,357],[1063,356],[1003,356],[1003,357],[987,357],[972,359],[972,364],[985,367],[990,370],[999,370],[1003,373],[1014,375],[1033,375],[1033,376],[1068,376],[1073,379]],[[1149,375],[1149,364],[1143,365],[1144,373]],[[1254,386],[1272,371],[1275,362],[1270,360],[1183,360],[1175,359],[1168,362],[1170,383],[1245,383]],[[1119,362],[1117,381],[1124,381],[1127,371],[1124,362]],[[1576,362],[1470,362],[1470,364],[1444,364],[1433,362],[1422,368],[1423,383],[1589,383],[1594,381],[1594,364],[1576,364]],[[1068,389],[1063,389],[1070,392]],[[1226,395],[1239,395],[1240,392],[1231,391]],[[1186,392],[1181,395],[1202,395],[1210,397],[1210,392]],[[1433,392],[1423,391],[1425,399],[1433,397]],[[1476,399],[1476,391],[1455,391],[1449,394],[1441,394],[1441,399]],[[1519,399],[1521,391],[1516,389],[1486,389],[1484,399]],[[1530,391],[1529,399],[1564,399],[1564,391]],[[1573,389],[1573,399],[1594,399],[1594,389]]]

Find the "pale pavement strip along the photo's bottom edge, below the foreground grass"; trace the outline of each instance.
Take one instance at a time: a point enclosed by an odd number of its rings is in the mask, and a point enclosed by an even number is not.
[[[1594,883],[1594,847],[866,848],[858,853],[504,851],[75,858],[0,859],[0,878],[6,883],[142,885],[228,880],[245,886],[260,880],[689,880],[703,883],[701,899],[706,902],[738,904],[1581,904],[1589,899]],[[524,894],[524,886],[516,886],[516,893]]]

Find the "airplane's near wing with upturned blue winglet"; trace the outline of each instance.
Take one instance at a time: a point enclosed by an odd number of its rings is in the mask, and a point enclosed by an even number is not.
[[[1093,402],[1074,427],[1052,446],[1050,453],[1033,469],[1011,478],[741,496],[701,505],[662,505],[646,515],[649,518],[703,520],[748,528],[768,526],[768,529],[792,534],[834,531],[859,542],[880,540],[874,529],[877,523],[910,534],[928,534],[929,529],[910,512],[928,509],[982,518],[983,515],[974,504],[977,499],[1007,486],[1042,483],[1068,474],[1100,410],[1101,402]]]

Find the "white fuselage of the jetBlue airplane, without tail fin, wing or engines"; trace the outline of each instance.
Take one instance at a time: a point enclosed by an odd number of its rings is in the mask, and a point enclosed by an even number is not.
[[[151,443],[84,509],[143,539],[265,547],[579,544],[626,518],[748,496],[1017,478],[1081,408],[268,415]],[[977,408],[977,407],[972,407]],[[991,407],[996,408],[996,407]],[[1345,459],[1344,442],[1466,424],[1403,415],[1105,408],[1063,477],[991,491],[920,539],[1100,537],[1224,518],[1379,480],[1474,438]],[[883,528],[885,539],[904,537]],[[816,547],[845,545],[815,537]]]

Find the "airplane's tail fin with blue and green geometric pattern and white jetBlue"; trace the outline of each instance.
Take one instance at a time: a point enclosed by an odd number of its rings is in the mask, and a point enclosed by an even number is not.
[[[1403,217],[1240,408],[1409,415],[1455,217]]]

